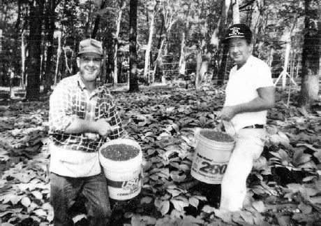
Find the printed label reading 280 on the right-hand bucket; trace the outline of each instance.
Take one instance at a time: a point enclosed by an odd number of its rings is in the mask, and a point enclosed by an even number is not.
[[[204,183],[221,183],[228,162],[214,162],[197,153],[194,157],[191,175]]]

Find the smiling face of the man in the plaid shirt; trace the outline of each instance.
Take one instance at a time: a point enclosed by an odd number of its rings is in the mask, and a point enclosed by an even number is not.
[[[100,73],[102,58],[94,52],[87,52],[77,57],[77,66],[84,82],[96,80]]]

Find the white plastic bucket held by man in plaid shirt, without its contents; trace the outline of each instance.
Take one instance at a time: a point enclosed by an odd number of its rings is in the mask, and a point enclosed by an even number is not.
[[[113,144],[134,146],[140,152],[130,160],[110,160],[101,154],[101,150]],[[111,199],[132,199],[140,193],[142,190],[142,149],[139,143],[130,139],[115,139],[104,143],[99,149],[99,161],[107,178]]]

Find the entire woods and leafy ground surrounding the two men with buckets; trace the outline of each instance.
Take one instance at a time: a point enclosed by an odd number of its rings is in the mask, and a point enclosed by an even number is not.
[[[142,192],[113,209],[121,225],[321,225],[320,13],[316,0],[0,0],[0,225],[52,225],[49,95],[90,37],[144,152]],[[253,29],[276,106],[244,209],[226,214],[191,163],[195,127],[219,124],[233,64],[221,39],[236,22]]]

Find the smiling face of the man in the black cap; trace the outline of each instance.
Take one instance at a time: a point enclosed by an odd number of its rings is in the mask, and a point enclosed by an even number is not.
[[[248,44],[245,38],[231,38],[229,43],[230,57],[238,66],[243,66],[252,55],[253,45]]]

